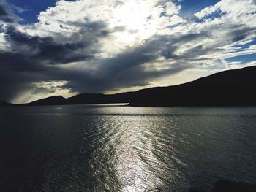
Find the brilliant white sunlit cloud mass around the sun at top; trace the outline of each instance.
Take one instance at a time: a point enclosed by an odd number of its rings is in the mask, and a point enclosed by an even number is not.
[[[75,39],[84,40],[89,28],[86,23],[105,23],[108,37],[99,39],[101,54],[113,55],[125,50],[127,46],[140,45],[154,34],[162,34],[167,26],[182,23],[177,14],[181,9],[172,2],[162,0],[119,0],[119,1],[57,1],[55,7],[40,12],[39,23],[20,26],[20,30],[40,37],[54,37],[57,41],[67,42]],[[161,15],[166,12],[167,15]],[[116,30],[116,28],[123,28]],[[94,33],[94,28],[91,28]],[[80,33],[79,36],[74,34]]]

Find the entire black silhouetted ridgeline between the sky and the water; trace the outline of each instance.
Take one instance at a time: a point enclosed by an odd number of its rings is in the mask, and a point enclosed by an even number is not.
[[[131,106],[256,106],[256,66],[228,70],[181,85],[147,88],[112,95],[83,93],[64,99],[53,96],[26,105],[111,104]]]

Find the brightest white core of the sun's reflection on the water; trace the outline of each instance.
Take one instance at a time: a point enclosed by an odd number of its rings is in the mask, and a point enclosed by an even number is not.
[[[121,146],[121,153],[118,154],[118,177],[121,183],[124,183],[122,191],[146,191],[153,183],[151,183],[152,173],[140,158],[140,150],[145,147],[141,138],[143,135],[136,127],[128,127],[129,135],[124,136],[125,139]],[[147,143],[146,145],[150,145]],[[148,158],[154,158],[151,152],[147,152]]]

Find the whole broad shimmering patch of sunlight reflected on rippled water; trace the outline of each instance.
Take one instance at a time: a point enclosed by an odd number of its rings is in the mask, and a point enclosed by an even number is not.
[[[136,108],[134,112],[143,113],[145,108]],[[172,183],[172,177],[167,175],[170,174],[169,172],[176,172],[178,177],[182,177],[181,172],[178,172],[175,164],[170,161],[170,158],[176,162],[178,159],[172,155],[174,147],[171,143],[175,135],[170,133],[164,135],[165,133],[162,132],[162,129],[166,128],[165,120],[169,121],[169,132],[174,131],[173,120],[164,117],[163,121],[151,115],[113,117],[102,121],[102,128],[98,128],[104,133],[100,139],[102,148],[91,156],[93,159],[91,163],[95,162],[97,157],[94,173],[102,172],[102,167],[108,164],[105,167],[105,175],[114,174],[116,179],[113,180],[113,177],[106,179],[109,182],[107,183],[109,186],[118,183],[114,185],[119,186],[118,190],[124,192],[157,191],[159,186],[166,184],[165,177],[168,178],[168,183]],[[170,123],[173,123],[173,127]],[[165,153],[168,150],[173,151],[167,155]],[[173,178],[173,182],[175,180]]]

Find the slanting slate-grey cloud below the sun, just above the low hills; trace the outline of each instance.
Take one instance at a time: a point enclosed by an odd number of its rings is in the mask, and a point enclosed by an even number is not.
[[[56,74],[69,80],[67,88],[75,92],[102,92],[124,86],[147,85],[146,79],[152,74],[146,74],[141,66],[146,62],[154,61],[158,55],[154,55],[152,47],[137,47],[115,58],[105,59],[100,62],[100,67],[94,71],[80,71],[68,69],[66,72]]]

